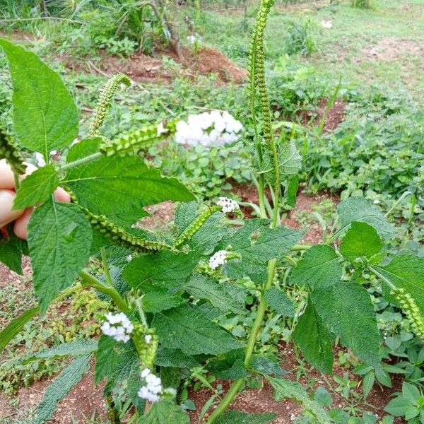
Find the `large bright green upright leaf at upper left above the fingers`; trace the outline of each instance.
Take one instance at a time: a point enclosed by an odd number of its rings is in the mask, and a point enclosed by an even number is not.
[[[45,156],[78,135],[78,111],[59,75],[33,53],[0,39],[13,84],[13,129],[19,143]]]

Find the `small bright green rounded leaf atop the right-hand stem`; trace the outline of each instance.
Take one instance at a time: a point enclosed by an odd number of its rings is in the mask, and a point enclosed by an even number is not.
[[[348,261],[354,261],[360,257],[370,259],[382,247],[382,239],[371,225],[353,222],[351,228],[349,228],[343,240],[341,240],[340,253]]]

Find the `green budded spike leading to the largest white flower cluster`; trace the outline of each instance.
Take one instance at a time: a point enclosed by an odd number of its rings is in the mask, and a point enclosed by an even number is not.
[[[102,141],[99,146],[99,151],[106,156],[116,154],[136,155],[139,151],[152,146],[158,141],[163,141],[174,134],[175,124],[175,121],[146,124],[141,129],[121,134],[112,141]]]

